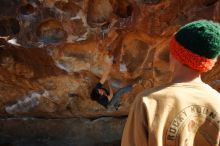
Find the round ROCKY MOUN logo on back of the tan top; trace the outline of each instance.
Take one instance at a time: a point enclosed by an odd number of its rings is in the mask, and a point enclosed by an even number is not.
[[[220,115],[200,105],[184,108],[168,127],[166,146],[218,146]]]

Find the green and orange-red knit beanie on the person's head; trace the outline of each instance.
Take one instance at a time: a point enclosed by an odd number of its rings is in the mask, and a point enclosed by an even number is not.
[[[212,69],[220,54],[220,24],[199,20],[181,27],[170,41],[170,52],[192,69]]]

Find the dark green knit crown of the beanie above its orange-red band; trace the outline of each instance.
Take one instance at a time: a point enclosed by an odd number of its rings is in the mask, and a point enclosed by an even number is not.
[[[208,20],[191,22],[175,35],[184,48],[200,56],[213,59],[220,54],[220,24]]]

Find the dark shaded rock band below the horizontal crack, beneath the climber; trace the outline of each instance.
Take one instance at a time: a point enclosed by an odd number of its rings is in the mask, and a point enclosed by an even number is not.
[[[124,122],[125,119],[110,117],[1,119],[0,145],[119,146]]]

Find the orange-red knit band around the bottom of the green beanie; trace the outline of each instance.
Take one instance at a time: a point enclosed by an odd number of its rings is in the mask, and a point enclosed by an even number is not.
[[[170,52],[182,64],[188,65],[190,68],[200,72],[207,72],[215,65],[215,60],[205,58],[184,48],[176,41],[175,37],[170,41]]]

